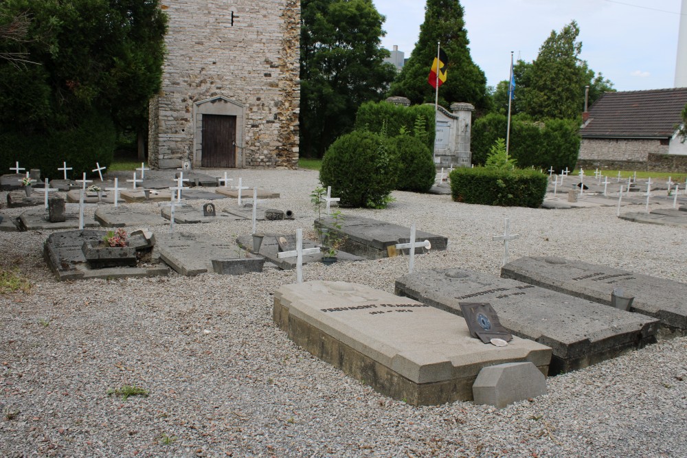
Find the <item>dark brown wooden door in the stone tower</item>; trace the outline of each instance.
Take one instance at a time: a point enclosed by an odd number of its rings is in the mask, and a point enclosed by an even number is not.
[[[236,167],[236,116],[203,115],[202,167]]]

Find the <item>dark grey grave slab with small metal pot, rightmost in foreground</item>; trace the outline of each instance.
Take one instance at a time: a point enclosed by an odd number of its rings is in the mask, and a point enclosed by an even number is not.
[[[521,257],[501,269],[501,276],[610,306],[613,288],[634,297],[631,312],[660,319],[671,330],[687,332],[687,284],[619,268],[566,260]]]

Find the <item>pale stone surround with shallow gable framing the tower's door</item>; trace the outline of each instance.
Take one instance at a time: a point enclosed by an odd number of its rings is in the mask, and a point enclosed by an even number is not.
[[[236,164],[234,167],[245,168],[243,155],[244,106],[223,95],[199,100],[193,104],[193,167],[202,167],[203,162],[203,115],[236,117]]]

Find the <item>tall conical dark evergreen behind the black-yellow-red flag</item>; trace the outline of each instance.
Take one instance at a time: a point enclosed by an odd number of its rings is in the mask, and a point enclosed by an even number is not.
[[[452,102],[469,102],[478,111],[488,108],[486,76],[470,56],[463,13],[458,0],[427,0],[418,43],[392,83],[390,95],[402,95],[414,104],[434,102],[434,89],[427,84],[427,75],[440,42],[449,58],[447,81],[439,89],[440,104],[448,108]]]

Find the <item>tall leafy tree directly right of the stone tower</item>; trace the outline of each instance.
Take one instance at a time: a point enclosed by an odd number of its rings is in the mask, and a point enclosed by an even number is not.
[[[300,153],[322,157],[358,107],[377,101],[396,71],[383,62],[384,16],[372,0],[302,0]]]

